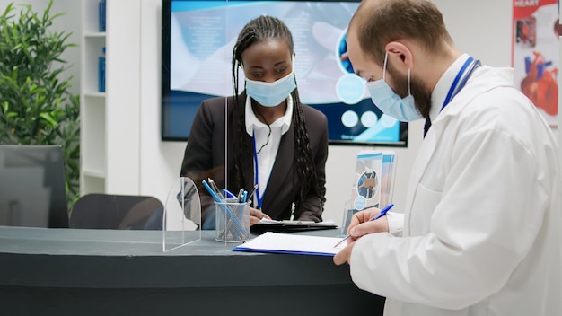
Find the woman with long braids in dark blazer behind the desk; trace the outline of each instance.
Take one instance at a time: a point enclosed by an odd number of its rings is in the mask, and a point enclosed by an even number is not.
[[[250,21],[233,48],[233,96],[203,101],[191,127],[181,176],[197,184],[212,178],[234,193],[257,184],[250,224],[264,217],[321,221],[328,123],[301,103],[293,62],[284,22],[265,15]],[[199,195],[201,227],[214,229],[214,200],[206,189]]]

